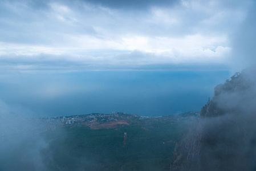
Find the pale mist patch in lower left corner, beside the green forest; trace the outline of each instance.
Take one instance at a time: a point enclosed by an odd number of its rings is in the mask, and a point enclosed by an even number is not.
[[[0,101],[0,170],[47,170],[41,151],[47,148],[39,136],[46,125],[34,123]]]

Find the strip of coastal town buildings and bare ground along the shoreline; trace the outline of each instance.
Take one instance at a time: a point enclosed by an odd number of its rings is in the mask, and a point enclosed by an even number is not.
[[[91,129],[116,129],[125,125],[152,125],[154,123],[176,123],[180,119],[194,119],[199,117],[199,112],[190,111],[180,115],[146,117],[131,115],[125,112],[112,112],[111,114],[91,113],[87,115],[72,115],[61,117],[40,117],[32,119],[39,125],[44,125],[44,131],[58,127],[89,127]]]

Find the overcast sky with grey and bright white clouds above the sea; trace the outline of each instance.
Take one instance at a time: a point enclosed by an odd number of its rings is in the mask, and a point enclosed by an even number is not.
[[[1,69],[223,67],[253,7],[250,0],[2,0]]]

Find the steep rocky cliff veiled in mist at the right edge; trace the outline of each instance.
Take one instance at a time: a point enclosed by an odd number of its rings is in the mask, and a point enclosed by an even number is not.
[[[176,144],[170,170],[256,169],[256,76],[235,74],[216,86],[214,97]]]

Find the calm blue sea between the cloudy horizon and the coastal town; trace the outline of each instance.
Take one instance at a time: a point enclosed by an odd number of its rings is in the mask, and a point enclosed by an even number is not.
[[[20,115],[126,112],[141,116],[200,111],[229,71],[83,71],[10,74],[1,100]]]

